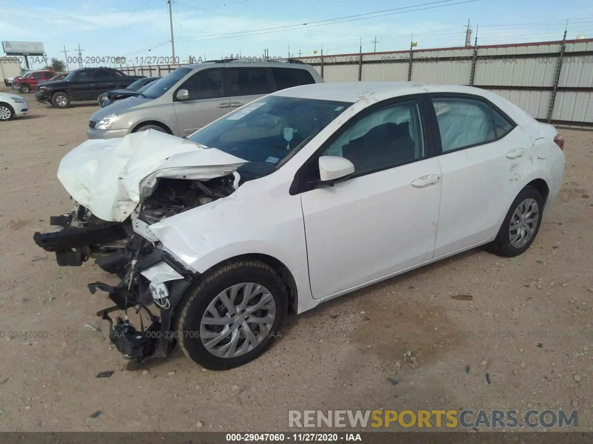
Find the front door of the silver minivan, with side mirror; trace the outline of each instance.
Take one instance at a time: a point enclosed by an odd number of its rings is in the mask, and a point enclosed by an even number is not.
[[[189,99],[177,99],[177,92],[187,89]],[[222,68],[199,70],[173,91],[173,106],[178,134],[189,136],[231,110],[222,88]]]

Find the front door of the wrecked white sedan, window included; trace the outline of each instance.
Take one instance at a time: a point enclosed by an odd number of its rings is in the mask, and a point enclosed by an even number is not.
[[[370,111],[340,133],[319,154],[346,157],[354,175],[301,194],[314,298],[425,262],[435,247],[441,169],[428,155],[418,98]],[[304,166],[305,190],[319,179],[316,160]]]

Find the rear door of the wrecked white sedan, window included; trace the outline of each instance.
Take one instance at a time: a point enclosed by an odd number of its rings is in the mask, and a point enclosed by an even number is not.
[[[433,94],[431,101],[442,170],[438,257],[496,236],[527,174],[533,144],[480,96]]]

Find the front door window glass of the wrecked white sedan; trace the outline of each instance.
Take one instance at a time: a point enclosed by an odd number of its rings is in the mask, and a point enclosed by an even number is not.
[[[323,155],[350,160],[355,176],[393,168],[425,157],[422,127],[418,101],[399,102],[350,124]]]

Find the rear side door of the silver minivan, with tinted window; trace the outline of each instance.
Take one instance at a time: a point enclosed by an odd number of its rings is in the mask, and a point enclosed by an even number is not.
[[[242,107],[251,101],[270,94],[272,85],[263,66],[225,66],[225,91],[231,101],[231,109]]]

